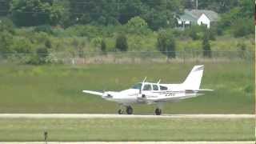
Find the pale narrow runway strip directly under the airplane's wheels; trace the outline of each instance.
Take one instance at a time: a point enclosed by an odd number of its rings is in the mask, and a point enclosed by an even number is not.
[[[256,118],[254,114],[0,114],[0,118]]]

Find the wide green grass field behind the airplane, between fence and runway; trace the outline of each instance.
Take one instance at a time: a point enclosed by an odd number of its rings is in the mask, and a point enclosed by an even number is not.
[[[182,82],[195,63],[104,64],[85,66],[0,65],[0,113],[116,113],[118,105],[82,90],[123,90],[148,81]],[[165,114],[253,114],[254,67],[247,62],[206,62],[198,98],[166,103]],[[154,106],[134,106],[153,114]]]

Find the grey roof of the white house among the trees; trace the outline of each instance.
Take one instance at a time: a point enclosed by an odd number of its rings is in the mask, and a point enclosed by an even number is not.
[[[202,14],[206,14],[206,17],[210,21],[218,21],[218,14],[212,10],[185,10],[184,14],[180,16],[182,20],[189,20],[191,22],[196,22]]]

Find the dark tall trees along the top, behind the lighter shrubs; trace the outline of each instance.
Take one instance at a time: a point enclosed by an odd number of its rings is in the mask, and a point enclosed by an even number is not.
[[[253,0],[199,0],[198,9],[252,17]],[[240,8],[242,7],[242,8]],[[139,16],[152,30],[175,26],[175,14],[194,9],[192,0],[1,0],[0,14],[16,26],[118,25]],[[241,13],[240,13],[241,12]],[[241,15],[241,17],[242,17]],[[233,17],[231,15],[230,17]],[[227,17],[227,16],[226,16]]]

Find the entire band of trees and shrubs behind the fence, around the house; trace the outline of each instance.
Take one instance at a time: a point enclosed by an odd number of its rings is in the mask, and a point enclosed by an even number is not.
[[[82,55],[93,47],[106,54],[155,46],[175,58],[176,41],[191,38],[202,41],[203,55],[210,58],[217,35],[254,34],[253,0],[198,0],[198,9],[218,12],[218,23],[210,30],[174,29],[175,16],[194,8],[191,0],[0,0],[0,53],[32,53],[26,63],[44,63],[54,51]]]

